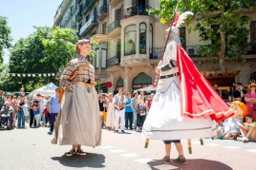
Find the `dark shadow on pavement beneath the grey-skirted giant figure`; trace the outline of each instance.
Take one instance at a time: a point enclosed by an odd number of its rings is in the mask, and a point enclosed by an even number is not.
[[[64,166],[69,167],[105,167],[105,165],[103,165],[105,162],[105,156],[95,153],[86,153],[85,156],[73,155],[72,157],[63,155],[61,157],[53,157],[52,160],[59,161]]]

